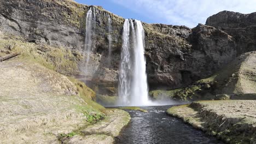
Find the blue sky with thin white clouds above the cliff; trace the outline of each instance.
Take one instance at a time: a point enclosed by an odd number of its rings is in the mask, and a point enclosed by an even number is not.
[[[183,25],[190,28],[205,24],[207,17],[223,10],[243,14],[256,12],[256,0],[75,0],[100,5],[124,17],[147,23]]]

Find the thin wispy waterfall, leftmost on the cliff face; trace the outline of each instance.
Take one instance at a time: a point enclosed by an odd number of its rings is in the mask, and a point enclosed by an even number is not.
[[[92,14],[92,11],[94,12]],[[90,61],[90,54],[92,51],[92,34],[93,34],[93,26],[95,20],[95,9],[94,7],[90,7],[86,15],[86,32],[85,32],[85,50],[86,50],[86,64],[85,64],[85,74],[88,75],[88,64]]]

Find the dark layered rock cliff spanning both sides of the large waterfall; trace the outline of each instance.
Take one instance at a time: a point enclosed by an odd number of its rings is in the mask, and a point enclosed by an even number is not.
[[[0,30],[20,35],[30,43],[62,46],[84,53],[89,7],[68,0],[0,1]],[[91,81],[91,87],[100,94],[116,95],[124,19],[101,7],[95,7],[94,13],[94,51],[85,80]],[[112,19],[110,64],[108,15]],[[199,24],[190,29],[143,23],[150,89],[187,86],[213,74],[239,54],[256,50],[255,14],[224,11],[208,18],[206,24],[209,26]],[[85,75],[84,61],[77,63],[80,74]]]

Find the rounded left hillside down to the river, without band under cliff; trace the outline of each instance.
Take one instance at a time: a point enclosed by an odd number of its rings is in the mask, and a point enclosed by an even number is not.
[[[1,143],[59,143],[84,135],[75,143],[112,143],[130,120],[127,112],[96,104],[95,92],[82,82],[31,58],[1,62],[0,76]],[[112,129],[97,128],[106,126]]]

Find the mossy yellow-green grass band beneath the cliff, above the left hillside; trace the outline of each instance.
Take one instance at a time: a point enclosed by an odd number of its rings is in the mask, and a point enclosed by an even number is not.
[[[11,34],[0,35],[0,47],[0,56],[20,52],[21,57],[29,57],[31,61],[64,75],[78,74],[78,61],[83,59],[83,56],[75,50],[28,43],[25,39]]]

